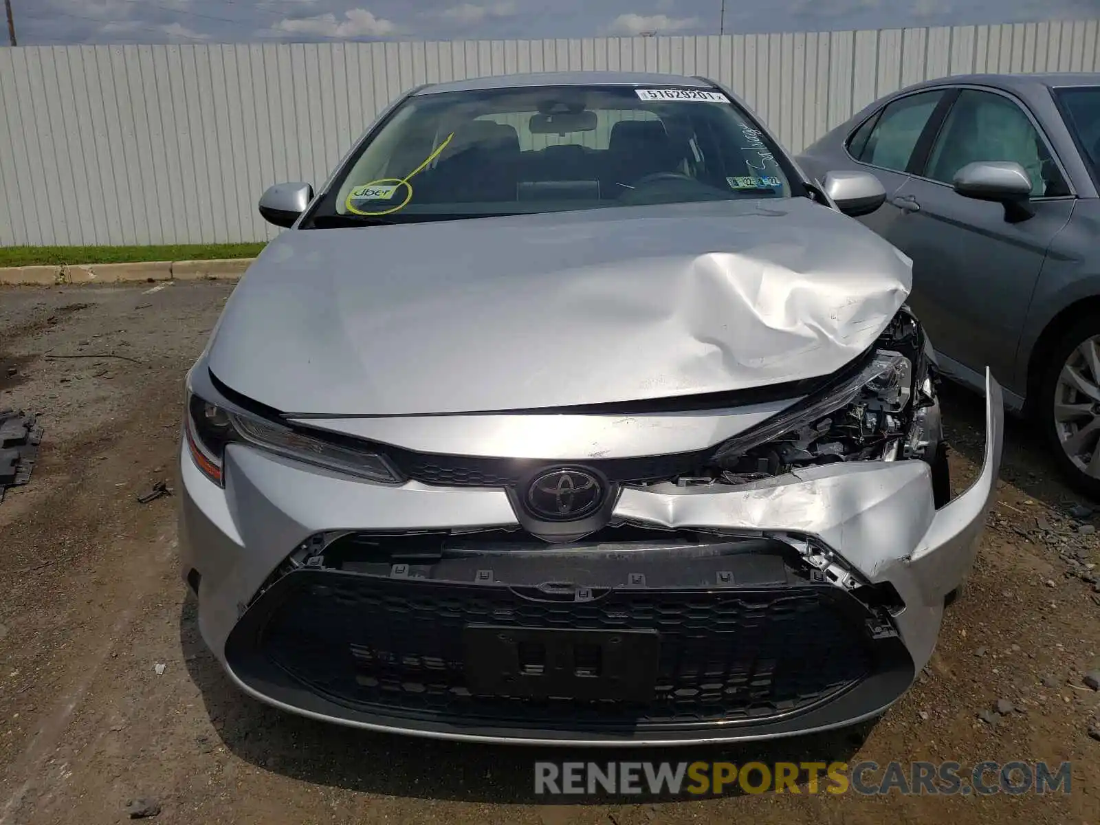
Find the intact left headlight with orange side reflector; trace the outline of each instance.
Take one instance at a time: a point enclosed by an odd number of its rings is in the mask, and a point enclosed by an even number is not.
[[[332,444],[274,421],[230,411],[197,395],[191,395],[187,402],[186,432],[195,465],[220,486],[224,486],[226,447],[231,443],[253,444],[277,455],[378,484],[402,483],[397,472],[377,453]]]

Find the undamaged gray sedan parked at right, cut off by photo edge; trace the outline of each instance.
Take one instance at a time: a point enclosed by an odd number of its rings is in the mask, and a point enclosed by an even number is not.
[[[1100,75],[979,75],[882,98],[799,157],[872,172],[860,220],[913,258],[943,370],[1034,418],[1100,497]]]

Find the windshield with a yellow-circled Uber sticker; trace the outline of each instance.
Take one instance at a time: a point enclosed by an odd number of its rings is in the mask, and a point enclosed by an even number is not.
[[[307,222],[784,198],[791,191],[781,157],[744,111],[711,89],[424,94],[349,160]]]

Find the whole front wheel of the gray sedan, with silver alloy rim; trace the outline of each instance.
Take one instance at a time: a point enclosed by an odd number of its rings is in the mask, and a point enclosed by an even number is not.
[[[1100,497],[1100,323],[1075,324],[1052,354],[1043,398],[1055,460],[1075,486]]]

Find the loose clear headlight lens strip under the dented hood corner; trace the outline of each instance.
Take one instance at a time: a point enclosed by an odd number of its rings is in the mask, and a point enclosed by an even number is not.
[[[857,402],[875,417],[900,413],[909,405],[913,393],[912,375],[913,365],[908,358],[892,350],[877,350],[867,366],[850,378],[735,436],[717,449],[712,461],[721,463],[739,457],[754,447],[809,427]],[[865,410],[860,411],[861,416]]]

